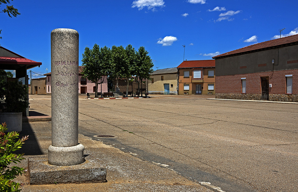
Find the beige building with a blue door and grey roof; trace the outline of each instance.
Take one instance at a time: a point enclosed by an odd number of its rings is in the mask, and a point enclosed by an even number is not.
[[[150,74],[148,80],[149,94],[178,94],[178,70],[174,68],[158,69]]]

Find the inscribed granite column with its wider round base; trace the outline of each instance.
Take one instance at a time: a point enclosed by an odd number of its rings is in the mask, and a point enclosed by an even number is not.
[[[74,29],[51,32],[52,145],[49,164],[83,163],[84,146],[78,143],[79,34]]]

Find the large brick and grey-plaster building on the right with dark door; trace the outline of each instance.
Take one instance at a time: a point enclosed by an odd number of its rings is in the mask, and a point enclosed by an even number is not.
[[[212,57],[215,98],[298,101],[298,35]]]

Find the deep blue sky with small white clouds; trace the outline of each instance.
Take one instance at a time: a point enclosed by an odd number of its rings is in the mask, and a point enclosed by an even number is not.
[[[79,33],[79,65],[86,46],[144,46],[154,67],[177,67],[187,60],[254,43],[298,34],[298,1],[289,0],[13,0],[21,15],[0,13],[0,44],[42,62],[51,71],[50,33],[56,28]],[[6,6],[5,6],[6,7]],[[2,4],[0,9],[5,8]],[[278,35],[277,37],[274,37]]]

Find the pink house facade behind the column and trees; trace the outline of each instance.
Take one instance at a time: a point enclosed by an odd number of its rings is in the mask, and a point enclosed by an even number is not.
[[[83,67],[79,66],[79,94],[86,94],[86,93],[95,93],[95,83],[92,83],[90,80],[86,79],[82,75]],[[46,94],[51,94],[51,73],[44,74],[46,76]],[[108,92],[108,81],[107,77],[103,76],[103,83],[102,85],[98,85],[97,92]],[[102,87],[102,90],[101,88]]]

